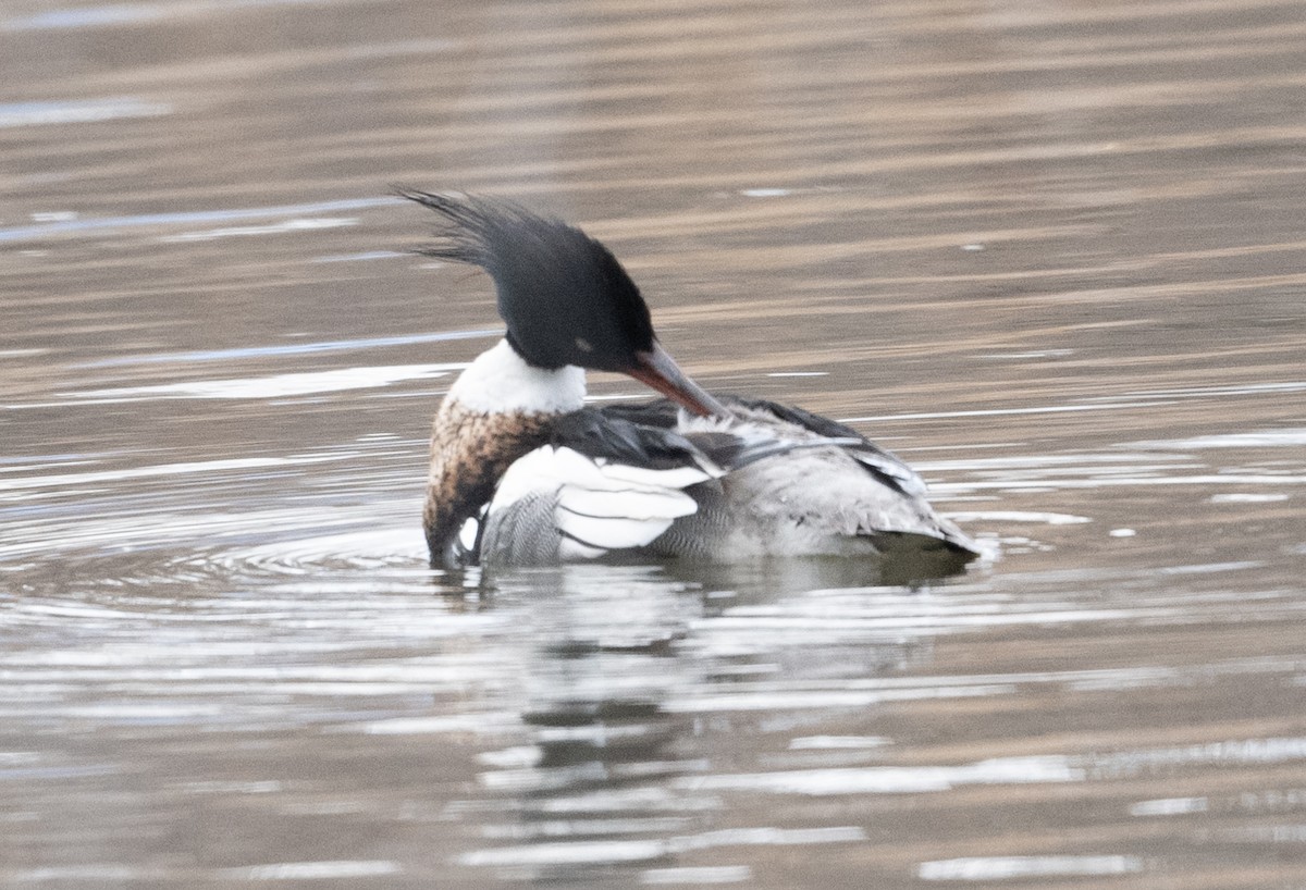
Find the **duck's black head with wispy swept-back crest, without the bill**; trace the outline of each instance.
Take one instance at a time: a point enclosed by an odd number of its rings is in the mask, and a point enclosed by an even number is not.
[[[541,368],[629,371],[653,348],[649,309],[611,251],[559,219],[498,198],[398,193],[448,223],[418,252],[494,278],[508,342]]]

